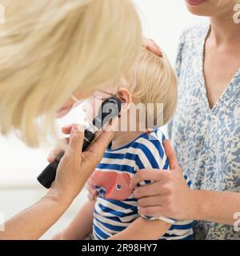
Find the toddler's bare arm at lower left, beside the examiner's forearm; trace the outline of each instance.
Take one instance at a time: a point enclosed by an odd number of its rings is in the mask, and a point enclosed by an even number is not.
[[[87,201],[77,216],[65,229],[56,234],[53,240],[83,240],[93,230],[94,201]]]

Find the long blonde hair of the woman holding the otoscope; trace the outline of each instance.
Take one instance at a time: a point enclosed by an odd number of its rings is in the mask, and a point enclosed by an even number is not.
[[[14,128],[29,146],[38,146],[54,130],[55,112],[70,94],[119,78],[132,65],[141,23],[130,0],[3,4],[0,131]]]

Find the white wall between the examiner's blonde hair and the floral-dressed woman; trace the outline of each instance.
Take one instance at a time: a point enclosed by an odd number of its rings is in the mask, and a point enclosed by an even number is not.
[[[182,31],[206,18],[190,14],[184,0],[134,0],[142,18],[143,31],[165,50],[174,63]]]

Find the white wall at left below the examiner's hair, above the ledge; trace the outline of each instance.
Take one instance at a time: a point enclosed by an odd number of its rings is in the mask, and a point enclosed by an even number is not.
[[[65,118],[57,121],[59,132],[60,127],[76,120],[81,122],[82,118],[81,109],[75,108]],[[45,143],[39,149],[30,149],[14,134],[6,138],[0,136],[0,189],[9,186],[38,186],[36,178],[48,164],[46,158],[53,148],[54,144]]]

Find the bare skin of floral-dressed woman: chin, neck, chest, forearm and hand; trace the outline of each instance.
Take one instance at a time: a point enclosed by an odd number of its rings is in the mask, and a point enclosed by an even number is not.
[[[235,24],[232,18],[235,3],[235,0],[207,0],[201,6],[190,6],[186,1],[193,14],[210,17],[211,29],[206,38],[204,56],[206,92],[210,108],[218,103],[240,67],[240,25]],[[134,197],[138,198],[140,213],[233,225],[236,221],[234,214],[240,211],[240,194],[190,190],[169,141],[164,142],[164,148],[170,160],[170,171],[144,170],[135,174],[132,179],[132,186],[136,187]],[[137,187],[142,180],[153,180],[154,183]],[[96,196],[92,183],[90,179],[90,198]]]

